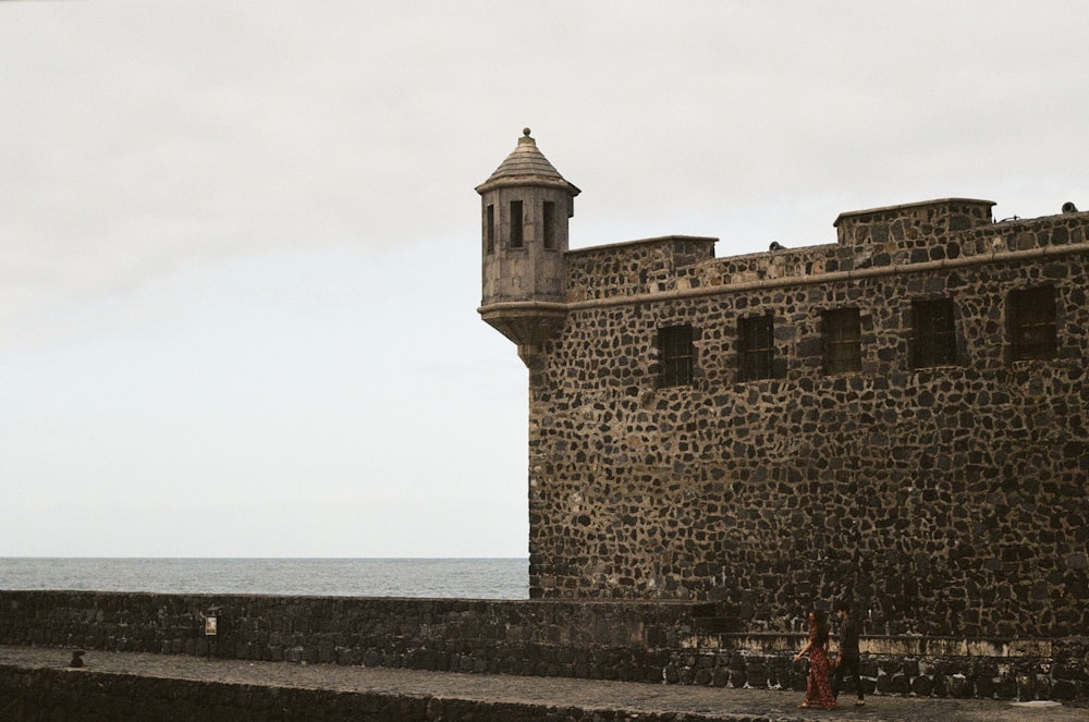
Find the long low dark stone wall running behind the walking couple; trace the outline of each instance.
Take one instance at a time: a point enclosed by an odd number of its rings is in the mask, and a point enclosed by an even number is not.
[[[717,604],[676,601],[0,591],[0,644],[657,684],[805,687],[804,663],[791,661],[803,634],[722,631],[732,626],[724,611]],[[211,613],[215,636],[206,634]],[[862,652],[868,693],[1089,698],[1089,638],[868,635]]]

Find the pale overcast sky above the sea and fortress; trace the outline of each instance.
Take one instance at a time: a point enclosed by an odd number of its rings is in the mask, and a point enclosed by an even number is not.
[[[1089,3],[0,2],[0,556],[522,556],[479,196],[573,247],[1089,208]]]

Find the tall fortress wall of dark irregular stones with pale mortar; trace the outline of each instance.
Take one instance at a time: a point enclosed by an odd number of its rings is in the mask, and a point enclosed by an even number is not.
[[[852,602],[871,633],[1089,628],[1089,213],[993,223],[952,199],[841,216],[839,242],[734,258],[713,240],[571,250],[562,329],[530,364],[530,585],[723,602],[784,628]],[[1054,290],[1053,357],[1012,360],[1011,292]],[[913,301],[956,354],[917,367]],[[827,369],[854,308],[860,368]],[[773,378],[738,321],[770,316]],[[662,329],[690,327],[663,386]]]

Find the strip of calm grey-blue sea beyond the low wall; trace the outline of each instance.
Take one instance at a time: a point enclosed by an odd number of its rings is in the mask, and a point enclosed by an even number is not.
[[[528,599],[526,559],[0,559],[0,589]]]

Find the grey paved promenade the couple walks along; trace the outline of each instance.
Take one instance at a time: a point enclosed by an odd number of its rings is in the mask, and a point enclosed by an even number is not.
[[[0,664],[17,668],[66,668],[71,652],[45,647],[0,646]],[[294,664],[207,660],[174,654],[88,651],[86,669],[107,674],[209,681],[272,687],[381,693],[421,698],[468,699],[482,702],[536,703],[552,708],[632,713],[700,714],[711,720],[890,720],[904,722],[1087,722],[1089,709],[1054,702],[1018,705],[978,699],[918,699],[873,696],[865,707],[841,696],[846,705],[835,711],[802,710],[802,695],[767,689],[726,689],[558,677],[518,677],[455,674],[335,664]],[[79,674],[79,670],[73,670]]]

